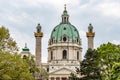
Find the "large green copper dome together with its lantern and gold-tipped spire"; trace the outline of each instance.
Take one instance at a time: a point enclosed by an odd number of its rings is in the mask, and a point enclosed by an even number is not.
[[[62,22],[53,29],[49,44],[72,42],[80,45],[81,41],[78,30],[69,22],[69,15],[67,13],[66,6],[61,17]]]

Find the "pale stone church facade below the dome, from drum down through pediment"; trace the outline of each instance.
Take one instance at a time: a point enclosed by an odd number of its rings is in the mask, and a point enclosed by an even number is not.
[[[66,59],[63,58],[64,50],[67,51]],[[49,45],[49,80],[67,80],[70,74],[75,73],[76,68],[80,67],[81,54],[81,45],[76,43],[65,42]]]

